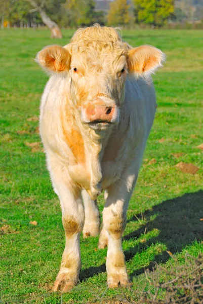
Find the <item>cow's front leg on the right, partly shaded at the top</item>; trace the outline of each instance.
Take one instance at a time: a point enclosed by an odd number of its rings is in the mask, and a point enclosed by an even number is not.
[[[131,175],[109,189],[103,210],[103,229],[108,233],[106,258],[107,283],[109,287],[129,286],[122,236],[126,227],[126,213],[136,177]],[[102,236],[101,236],[102,237]]]

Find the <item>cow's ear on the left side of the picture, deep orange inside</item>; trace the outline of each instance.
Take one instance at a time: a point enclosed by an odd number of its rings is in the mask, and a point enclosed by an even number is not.
[[[70,53],[63,47],[45,47],[36,55],[36,62],[48,72],[63,72],[70,68]]]

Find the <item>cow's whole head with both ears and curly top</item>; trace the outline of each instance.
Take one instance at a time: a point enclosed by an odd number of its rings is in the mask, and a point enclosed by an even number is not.
[[[114,28],[94,25],[78,29],[64,47],[44,48],[36,60],[48,72],[67,77],[82,123],[99,130],[118,123],[127,75],[148,75],[164,57],[152,46],[130,47]]]

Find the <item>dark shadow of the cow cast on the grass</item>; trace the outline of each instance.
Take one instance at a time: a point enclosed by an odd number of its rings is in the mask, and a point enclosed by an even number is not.
[[[159,205],[154,206],[151,210],[146,210],[144,217],[146,224],[140,226],[139,230],[133,231],[128,235],[124,235],[125,240],[137,239],[141,234],[150,232],[152,229],[157,229],[159,235],[148,240],[144,244],[138,244],[125,251],[126,260],[131,260],[135,254],[141,252],[144,248],[156,242],[166,245],[167,250],[172,253],[181,252],[183,248],[192,242],[203,239],[203,191],[195,193],[184,194],[181,197],[164,201]],[[154,218],[150,220],[150,218]],[[138,220],[141,214],[136,214],[128,222]],[[156,255],[148,265],[151,269],[154,262],[163,263],[169,259],[167,252]],[[145,269],[146,269],[145,268]],[[99,267],[90,267],[80,273],[80,280],[85,280],[95,274],[105,272],[105,264]],[[144,272],[144,268],[131,272],[131,279],[133,276]]]

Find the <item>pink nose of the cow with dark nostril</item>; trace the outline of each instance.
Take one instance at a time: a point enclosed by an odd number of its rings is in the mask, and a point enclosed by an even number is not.
[[[110,123],[113,117],[114,110],[114,106],[91,104],[86,108],[87,119],[91,123],[96,121],[104,121]]]

